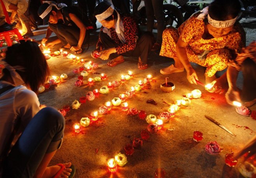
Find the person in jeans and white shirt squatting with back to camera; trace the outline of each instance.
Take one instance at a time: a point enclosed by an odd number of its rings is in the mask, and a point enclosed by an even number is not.
[[[0,65],[0,177],[74,175],[71,163],[47,167],[61,146],[65,119],[55,108],[40,107],[35,92],[50,73],[38,44],[21,40],[8,47]]]

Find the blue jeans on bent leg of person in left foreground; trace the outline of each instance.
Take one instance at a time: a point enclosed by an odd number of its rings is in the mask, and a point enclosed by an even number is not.
[[[4,163],[4,178],[32,178],[44,155],[60,148],[65,119],[46,107],[28,123]]]

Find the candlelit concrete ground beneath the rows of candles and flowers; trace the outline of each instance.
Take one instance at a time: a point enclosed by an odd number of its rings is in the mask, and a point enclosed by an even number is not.
[[[256,40],[256,21],[255,19],[243,20],[242,25],[247,32],[248,45]],[[202,86],[189,84],[186,72],[161,75],[160,69],[169,66],[173,60],[161,57],[154,52],[149,55],[149,68],[146,70],[139,70],[138,59],[133,57],[125,58],[125,62],[116,67],[108,67],[107,61],[91,57],[90,53],[95,49],[97,38],[98,32],[91,34],[88,51],[77,55],[86,61],[99,64],[99,68],[93,70],[88,77],[84,77],[84,84],[81,87],[74,86],[78,75],[72,72],[73,68],[78,68],[82,66],[81,64],[61,56],[47,60],[52,75],[65,73],[68,78],[40,93],[40,103],[61,109],[66,104],[71,105],[75,99],[79,100],[88,91],[100,89],[112,80],[119,80],[121,74],[126,75],[128,70],[132,70],[135,76],[110,90],[108,94],[100,94],[93,101],[86,101],[78,110],[71,109],[65,116],[63,144],[56,152],[51,165],[71,162],[76,168],[76,178],[151,178],[154,177],[156,168],[163,168],[167,178],[242,177],[237,166],[230,168],[225,165],[224,156],[231,151],[237,152],[256,134],[255,120],[238,115],[235,107],[226,103],[223,94],[212,94]],[[193,67],[199,80],[204,82],[205,69],[195,64]],[[94,78],[100,76],[101,73],[107,74],[107,80],[95,82],[93,86],[87,85],[89,77]],[[148,74],[153,75],[151,84],[126,100],[129,107],[145,110],[147,115],[158,116],[159,113],[167,111],[169,104],[174,104],[175,100],[181,99],[182,95],[193,89],[200,89],[202,97],[193,99],[188,107],[181,106],[170,122],[165,123],[156,134],[151,134],[148,140],[144,140],[143,146],[135,149],[132,156],[127,156],[128,163],[124,167],[118,167],[116,173],[111,174],[107,169],[107,160],[119,152],[124,153],[124,146],[131,143],[133,138],[140,137],[141,130],[147,128],[146,120],[140,120],[138,116],[126,115],[121,107],[113,106],[110,113],[100,115],[98,121],[82,128],[80,133],[75,133],[72,125],[79,123],[82,117],[87,117],[91,112],[97,111],[106,101],[118,97],[119,94],[135,86]],[[165,93],[160,90],[160,84],[165,82],[165,77],[175,84],[173,92]],[[240,79],[239,86],[241,82]],[[157,105],[147,104],[147,99],[153,99]],[[256,106],[250,109],[256,110]],[[205,115],[214,118],[237,136],[230,135],[210,122],[204,117]],[[193,132],[196,130],[203,133],[203,140],[198,143],[193,141]],[[224,148],[220,154],[215,156],[207,154],[204,150],[205,145],[212,141],[217,141]],[[240,160],[238,164],[239,162]]]

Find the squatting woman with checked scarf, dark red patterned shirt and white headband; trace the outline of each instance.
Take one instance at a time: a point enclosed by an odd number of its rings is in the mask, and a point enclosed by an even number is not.
[[[139,57],[138,68],[147,68],[148,53],[153,46],[150,32],[138,36],[138,28],[130,16],[121,16],[108,2],[101,2],[95,8],[95,17],[102,24],[96,50],[102,60],[110,59],[108,66],[124,62],[123,56]]]

